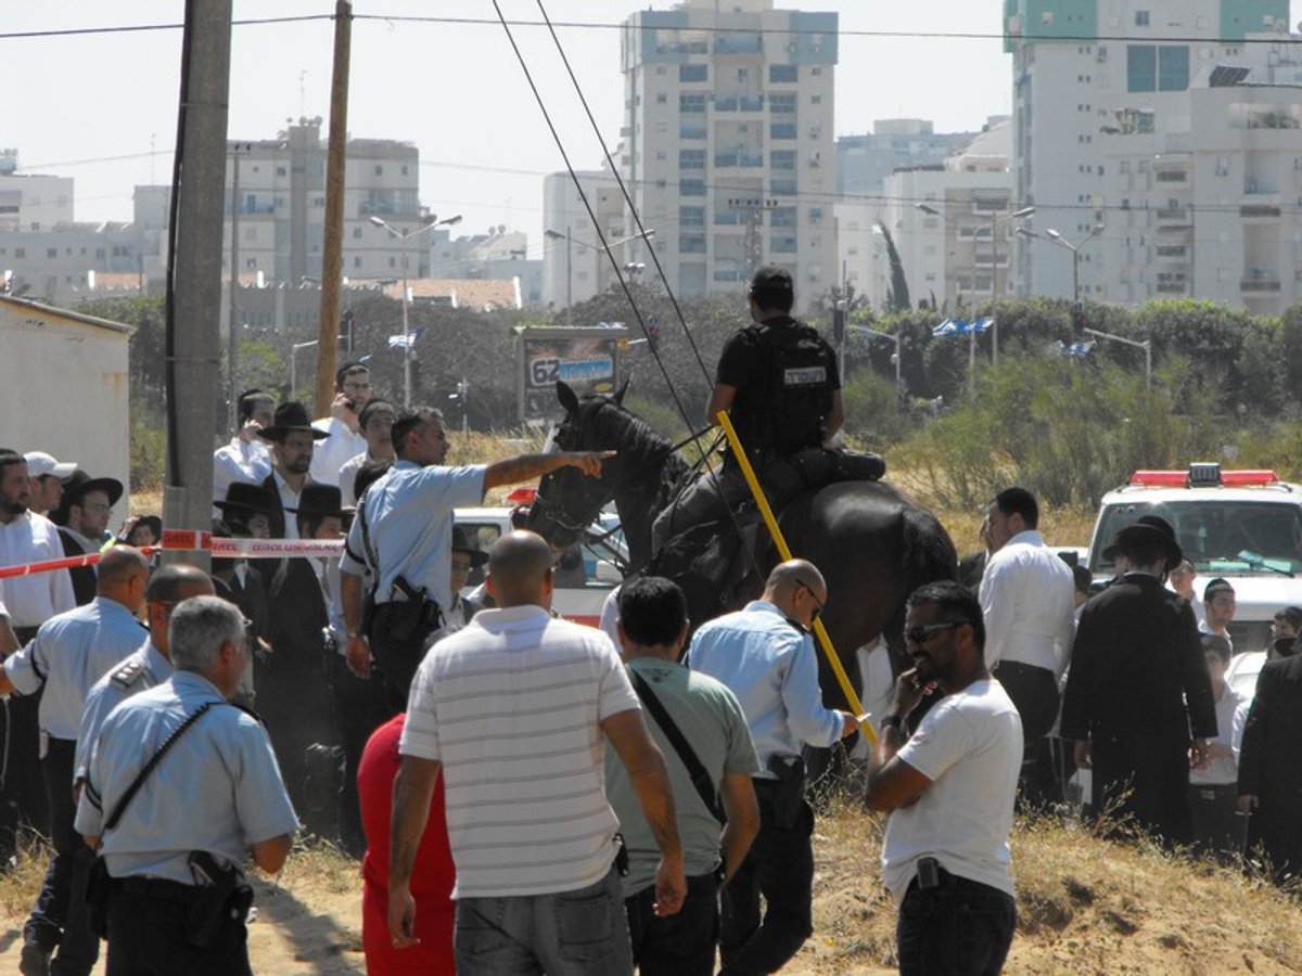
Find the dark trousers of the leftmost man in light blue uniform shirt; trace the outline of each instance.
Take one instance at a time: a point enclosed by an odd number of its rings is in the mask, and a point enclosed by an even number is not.
[[[55,852],[46,868],[46,880],[22,927],[25,943],[49,953],[59,947],[51,964],[56,976],[86,976],[99,959],[99,937],[86,923],[86,878],[95,855],[73,826],[73,761],[77,743],[51,739],[42,774],[49,802],[49,839]]]

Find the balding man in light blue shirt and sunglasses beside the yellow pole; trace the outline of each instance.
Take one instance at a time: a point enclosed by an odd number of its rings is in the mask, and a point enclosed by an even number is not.
[[[763,769],[755,776],[759,835],[723,894],[720,976],[777,972],[814,932],[814,811],[801,748],[832,746],[859,727],[854,716],[823,707],[809,629],[825,603],[823,574],[790,560],[769,574],[759,600],[691,639],[689,666],[741,701]]]

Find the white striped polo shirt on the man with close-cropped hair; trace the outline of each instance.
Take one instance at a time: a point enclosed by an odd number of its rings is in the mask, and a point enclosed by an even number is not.
[[[615,861],[602,722],[639,709],[609,639],[542,606],[480,610],[426,655],[398,752],[443,764],[453,898],[574,891]]]

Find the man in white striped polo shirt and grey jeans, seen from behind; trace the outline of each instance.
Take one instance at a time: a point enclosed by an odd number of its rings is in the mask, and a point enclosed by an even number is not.
[[[552,618],[552,553],[510,532],[488,557],[496,609],[435,644],[417,670],[398,751],[389,934],[413,943],[411,864],[440,770],[457,867],[461,976],[633,972],[605,796],[603,735],[661,851],[656,912],[686,895],[664,756],[608,636]]]

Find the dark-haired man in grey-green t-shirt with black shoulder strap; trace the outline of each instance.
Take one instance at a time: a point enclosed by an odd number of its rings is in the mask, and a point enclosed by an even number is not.
[[[669,768],[687,874],[682,911],[656,917],[660,848],[624,765],[607,751],[607,795],[629,854],[624,904],[633,958],[642,976],[711,976],[719,940],[719,868],[724,878],[732,877],[759,832],[751,786],[759,760],[737,698],[713,678],[678,664],[687,638],[687,604],[674,583],[643,576],[625,586],[617,627],[647,727]],[[677,734],[667,731],[665,718]],[[681,748],[684,743],[687,750]],[[691,757],[685,757],[686,751]],[[699,772],[695,781],[689,766]],[[727,815],[723,828],[720,804]]]

